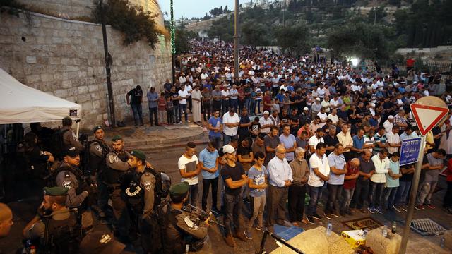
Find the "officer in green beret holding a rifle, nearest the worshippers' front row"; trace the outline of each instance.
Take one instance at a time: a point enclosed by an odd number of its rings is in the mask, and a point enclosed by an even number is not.
[[[167,212],[169,223],[165,231],[165,254],[186,253],[187,244],[206,240],[209,219],[196,225],[192,222],[190,214],[182,210],[188,194],[189,183],[187,182],[177,183],[169,188],[172,202]]]

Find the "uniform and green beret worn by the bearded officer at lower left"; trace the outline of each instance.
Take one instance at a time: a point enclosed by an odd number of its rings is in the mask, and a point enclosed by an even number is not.
[[[44,195],[66,195],[67,188],[45,187]],[[77,253],[81,241],[81,225],[76,213],[64,207],[49,215],[38,214],[40,220],[25,231],[25,238],[37,243],[39,253]]]

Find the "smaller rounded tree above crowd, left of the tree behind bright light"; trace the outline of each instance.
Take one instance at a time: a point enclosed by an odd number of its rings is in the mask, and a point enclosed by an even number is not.
[[[297,24],[275,29],[276,42],[279,47],[290,54],[304,54],[310,51],[310,32],[305,25]]]

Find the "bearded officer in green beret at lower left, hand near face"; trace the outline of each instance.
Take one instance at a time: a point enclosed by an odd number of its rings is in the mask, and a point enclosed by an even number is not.
[[[37,253],[77,253],[81,225],[66,207],[68,188],[44,187],[38,214],[23,229],[23,236],[37,246]]]

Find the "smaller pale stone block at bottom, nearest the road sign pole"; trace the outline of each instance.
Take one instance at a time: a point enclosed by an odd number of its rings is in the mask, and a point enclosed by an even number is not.
[[[375,254],[398,254],[402,243],[402,236],[388,231],[388,237],[381,234],[383,226],[372,229],[367,233],[366,246],[374,250]]]

